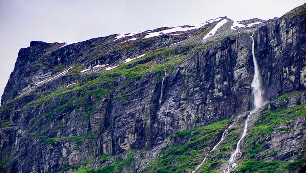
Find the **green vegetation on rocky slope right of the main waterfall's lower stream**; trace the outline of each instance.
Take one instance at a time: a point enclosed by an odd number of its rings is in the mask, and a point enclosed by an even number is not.
[[[299,92],[291,92],[281,95],[275,100],[288,103],[291,97],[298,95]],[[275,103],[275,100],[271,104]],[[288,172],[294,168],[301,167],[306,159],[300,159],[294,162],[271,161],[266,162],[263,159],[273,157],[281,150],[263,152],[265,141],[263,140],[274,131],[291,131],[290,127],[282,127],[282,124],[292,125],[292,121],[299,116],[306,116],[306,104],[287,108],[288,105],[282,105],[275,109],[266,110],[261,113],[258,121],[249,131],[247,143],[244,146],[245,157],[248,160],[242,162],[236,173],[279,173]]]

